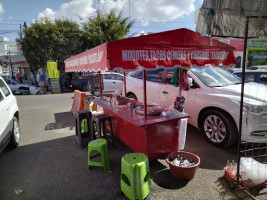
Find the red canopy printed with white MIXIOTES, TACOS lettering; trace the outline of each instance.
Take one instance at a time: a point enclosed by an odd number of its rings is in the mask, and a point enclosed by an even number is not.
[[[188,30],[177,29],[110,41],[65,60],[65,71],[135,70],[164,67],[235,65],[235,48]]]

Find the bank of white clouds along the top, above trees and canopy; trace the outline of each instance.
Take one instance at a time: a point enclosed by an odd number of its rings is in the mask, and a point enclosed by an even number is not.
[[[62,4],[58,10],[47,8],[39,13],[38,18],[64,17],[79,21],[80,18],[86,19],[93,15],[100,8],[106,12],[122,11],[124,16],[148,25],[150,22],[166,22],[188,15],[195,10],[194,2],[195,0],[99,0],[96,5],[94,0],[72,0]]]

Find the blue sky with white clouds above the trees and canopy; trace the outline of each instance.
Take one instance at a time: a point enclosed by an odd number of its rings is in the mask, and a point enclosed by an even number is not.
[[[203,0],[0,0],[0,36],[14,41],[20,26],[48,17],[68,18],[78,23],[97,9],[134,20],[130,34],[156,33],[178,28],[195,31],[194,11]]]

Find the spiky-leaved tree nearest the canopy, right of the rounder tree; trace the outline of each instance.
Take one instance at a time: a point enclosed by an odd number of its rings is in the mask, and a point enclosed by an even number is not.
[[[105,14],[97,10],[96,16],[83,23],[85,47],[90,49],[108,41],[123,39],[133,23],[128,17],[123,18],[121,13],[116,16],[114,11]]]

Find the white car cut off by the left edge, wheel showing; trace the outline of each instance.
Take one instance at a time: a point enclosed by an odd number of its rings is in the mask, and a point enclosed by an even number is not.
[[[16,97],[0,77],[0,152],[10,144],[12,147],[19,145],[19,109]]]

